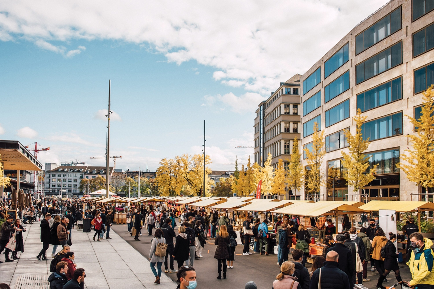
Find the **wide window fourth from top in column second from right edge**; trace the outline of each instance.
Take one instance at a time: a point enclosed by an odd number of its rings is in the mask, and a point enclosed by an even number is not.
[[[393,135],[402,135],[402,112],[378,118],[362,125],[363,139],[374,141]]]

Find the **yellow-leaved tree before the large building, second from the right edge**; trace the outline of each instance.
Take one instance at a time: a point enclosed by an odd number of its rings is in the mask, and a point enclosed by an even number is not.
[[[362,116],[360,108],[357,110],[357,115],[353,118],[356,124],[356,134],[352,135],[349,130],[344,130],[345,138],[348,143],[349,154],[341,151],[342,166],[345,167],[343,172],[345,181],[348,182],[349,187],[352,187],[355,192],[361,194],[361,190],[367,184],[375,179],[375,171],[378,164],[375,164],[369,172],[370,155],[363,152],[369,147],[369,138],[363,139],[362,125],[366,120],[366,116]],[[334,194],[334,192],[333,192]]]

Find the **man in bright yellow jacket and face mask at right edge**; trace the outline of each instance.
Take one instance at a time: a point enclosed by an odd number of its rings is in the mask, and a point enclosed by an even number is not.
[[[410,242],[414,250],[411,251],[410,261],[407,263],[412,277],[408,285],[411,289],[434,289],[434,252],[431,249],[433,242],[424,238],[421,233],[411,233]]]

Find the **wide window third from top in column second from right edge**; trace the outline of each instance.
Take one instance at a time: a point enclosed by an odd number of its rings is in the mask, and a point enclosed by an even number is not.
[[[357,108],[362,112],[402,99],[401,77],[357,95]]]

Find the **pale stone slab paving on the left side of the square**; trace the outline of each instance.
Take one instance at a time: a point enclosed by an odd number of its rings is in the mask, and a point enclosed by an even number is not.
[[[76,227],[77,228],[77,227]],[[20,275],[49,275],[51,252],[53,245],[47,250],[48,261],[38,261],[36,255],[42,248],[40,242],[39,222],[26,226],[24,252],[18,254],[19,260],[0,264],[0,283],[15,286]],[[141,289],[141,288],[175,288],[177,284],[164,273],[160,285],[154,284],[155,276],[151,271],[148,259],[138,253],[116,232],[110,231],[111,240],[93,241],[95,232],[83,233],[72,230],[71,251],[75,253],[75,261],[86,273],[85,288],[92,289]],[[59,252],[60,246],[57,249]],[[4,255],[0,257],[4,261]]]

